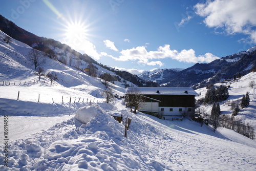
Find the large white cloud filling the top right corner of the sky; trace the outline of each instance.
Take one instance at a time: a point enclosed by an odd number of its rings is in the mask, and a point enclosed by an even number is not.
[[[207,27],[222,28],[227,34],[243,33],[256,42],[256,1],[215,0],[195,5],[196,14],[205,17]]]

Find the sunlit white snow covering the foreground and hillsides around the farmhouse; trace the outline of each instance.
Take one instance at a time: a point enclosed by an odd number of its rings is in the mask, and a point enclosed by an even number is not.
[[[46,78],[37,82],[26,59],[30,48],[13,39],[6,44],[0,33],[0,122],[8,123],[7,137],[4,126],[0,129],[0,170],[256,170],[256,141],[234,131],[218,128],[214,133],[189,119],[133,114],[121,99],[106,104],[99,79],[47,57],[43,67],[60,79],[54,86],[45,83]],[[253,122],[256,96],[247,83],[242,89],[242,82],[254,78],[253,73],[242,77],[229,91],[230,99],[250,92],[250,105],[238,115],[244,121]],[[120,84],[112,87],[123,95]],[[231,113],[225,104],[221,109]],[[82,124],[75,118],[81,111],[96,116]],[[127,138],[124,124],[110,114],[132,119]]]

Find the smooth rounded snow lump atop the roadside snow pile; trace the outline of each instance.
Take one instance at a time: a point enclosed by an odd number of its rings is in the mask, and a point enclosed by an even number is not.
[[[102,113],[102,108],[99,105],[93,104],[90,106],[83,106],[76,111],[75,118],[82,123],[87,124],[91,118],[96,117]]]

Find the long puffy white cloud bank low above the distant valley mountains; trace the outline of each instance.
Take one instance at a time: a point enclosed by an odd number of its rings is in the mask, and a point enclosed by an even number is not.
[[[189,50],[182,50],[178,52],[177,50],[170,50],[169,45],[160,46],[157,51],[147,51],[144,46],[122,50],[120,52],[119,57],[112,57],[115,60],[119,61],[138,61],[142,65],[149,65],[149,66],[163,66],[163,63],[159,61],[159,59],[164,58],[172,58],[178,60],[180,62],[187,62],[187,63],[197,63],[197,62],[211,62],[215,59],[219,59],[219,57],[212,55],[211,53],[206,53],[205,55],[196,56],[196,53],[193,49]],[[155,60],[157,61],[150,61]]]

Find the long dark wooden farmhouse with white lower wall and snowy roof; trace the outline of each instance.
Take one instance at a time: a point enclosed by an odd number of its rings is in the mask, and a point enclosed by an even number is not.
[[[143,97],[143,102],[140,102],[138,110],[158,115],[162,119],[194,115],[195,96],[198,95],[195,90],[188,87],[127,87],[125,94],[138,94]]]

